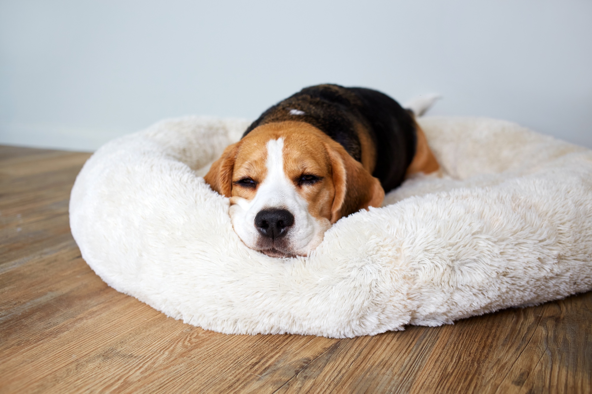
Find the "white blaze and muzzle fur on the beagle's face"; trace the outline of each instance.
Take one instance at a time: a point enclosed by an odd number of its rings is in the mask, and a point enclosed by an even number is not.
[[[329,221],[318,221],[308,213],[307,201],[301,198],[294,183],[285,175],[283,138],[269,140],[266,147],[267,175],[260,183],[255,198],[248,201],[233,197],[234,204],[230,206],[230,217],[234,231],[247,246],[253,248],[260,237],[255,227],[255,216],[258,212],[270,208],[287,209],[294,215],[294,224],[286,235],[292,253],[307,254],[323,240],[324,231],[330,225]]]

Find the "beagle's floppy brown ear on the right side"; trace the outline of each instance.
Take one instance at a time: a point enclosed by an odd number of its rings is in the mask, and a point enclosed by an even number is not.
[[[326,148],[331,160],[335,187],[331,222],[360,209],[368,209],[368,206],[381,206],[384,189],[380,181],[353,159],[339,143],[326,145]]]

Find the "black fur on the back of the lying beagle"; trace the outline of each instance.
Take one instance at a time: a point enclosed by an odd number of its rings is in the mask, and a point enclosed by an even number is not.
[[[365,128],[376,148],[377,177],[385,192],[403,182],[416,150],[413,116],[384,93],[366,88],[317,85],[272,106],[244,132],[271,122],[300,121],[317,127],[341,144],[358,162],[362,147],[356,125]]]

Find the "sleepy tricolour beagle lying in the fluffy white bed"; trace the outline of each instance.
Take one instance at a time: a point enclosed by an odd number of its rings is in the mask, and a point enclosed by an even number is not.
[[[263,112],[204,179],[230,198],[246,246],[294,257],[406,177],[437,170],[413,111],[372,89],[317,85]]]

